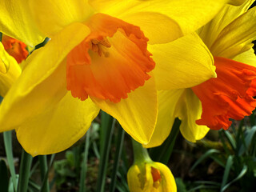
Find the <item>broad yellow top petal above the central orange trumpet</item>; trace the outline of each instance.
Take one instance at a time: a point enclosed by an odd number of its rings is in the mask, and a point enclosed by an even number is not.
[[[90,0],[89,2],[99,12],[140,26],[146,37],[150,38],[150,43],[162,43],[197,30],[209,22],[228,0]],[[148,20],[145,22],[147,16],[150,22]]]

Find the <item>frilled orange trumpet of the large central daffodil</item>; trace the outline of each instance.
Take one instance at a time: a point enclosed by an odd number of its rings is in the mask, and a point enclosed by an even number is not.
[[[67,56],[67,90],[81,100],[120,102],[150,78],[155,63],[148,39],[138,26],[106,14],[94,14],[85,24],[90,34]]]

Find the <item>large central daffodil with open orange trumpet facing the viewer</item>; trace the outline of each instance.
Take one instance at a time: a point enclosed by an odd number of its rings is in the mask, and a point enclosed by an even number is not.
[[[226,2],[4,1],[0,30],[30,46],[51,40],[27,58],[4,98],[1,131],[16,129],[32,155],[56,153],[81,138],[102,109],[146,144],[158,114],[148,43],[189,34]]]

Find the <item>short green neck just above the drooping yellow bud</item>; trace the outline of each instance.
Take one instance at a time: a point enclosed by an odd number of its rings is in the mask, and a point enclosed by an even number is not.
[[[136,142],[132,138],[132,144],[134,149],[134,164],[140,164],[142,162],[152,162],[150,155],[148,154],[146,148],[142,144]]]

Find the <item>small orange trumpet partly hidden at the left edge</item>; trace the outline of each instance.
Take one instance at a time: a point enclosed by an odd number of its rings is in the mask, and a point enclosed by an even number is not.
[[[13,56],[18,63],[25,60],[29,54],[29,52],[26,50],[26,44],[24,42],[18,41],[15,38],[10,38],[7,35],[3,35],[2,45],[4,46],[6,52]]]

